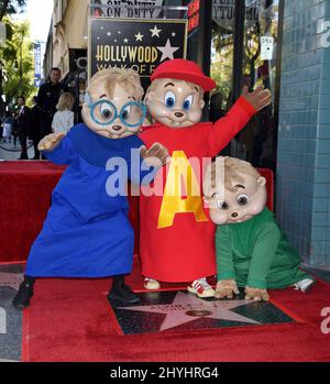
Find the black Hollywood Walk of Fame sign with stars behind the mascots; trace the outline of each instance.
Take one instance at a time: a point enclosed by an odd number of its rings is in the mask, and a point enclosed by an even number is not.
[[[186,20],[91,18],[89,77],[119,67],[148,78],[164,61],[185,58],[186,50]]]

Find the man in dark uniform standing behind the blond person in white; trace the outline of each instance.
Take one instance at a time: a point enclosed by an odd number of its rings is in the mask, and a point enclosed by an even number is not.
[[[56,113],[56,106],[59,96],[67,91],[61,83],[61,70],[52,68],[50,80],[40,87],[37,94],[37,105],[41,110],[41,139],[52,133],[53,117]]]

